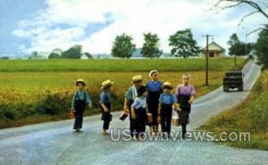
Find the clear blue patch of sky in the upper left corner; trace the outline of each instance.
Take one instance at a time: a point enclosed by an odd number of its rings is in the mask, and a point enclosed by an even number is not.
[[[19,45],[29,45],[27,38],[16,37],[13,30],[18,21],[34,18],[34,13],[46,8],[43,0],[0,0],[0,54],[16,53]]]

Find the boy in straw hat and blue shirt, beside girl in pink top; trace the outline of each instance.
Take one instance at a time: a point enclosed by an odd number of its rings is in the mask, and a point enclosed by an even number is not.
[[[168,137],[171,135],[171,125],[172,125],[172,105],[174,109],[178,109],[177,98],[172,95],[172,85],[170,82],[163,83],[163,94],[159,98],[159,110],[158,114],[161,118],[161,128],[163,136],[167,134]]]

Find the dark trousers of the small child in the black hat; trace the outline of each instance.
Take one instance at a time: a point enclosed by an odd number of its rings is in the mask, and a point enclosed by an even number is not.
[[[135,110],[137,114],[136,131],[139,136],[143,135],[146,131],[147,110],[145,108],[139,108]]]

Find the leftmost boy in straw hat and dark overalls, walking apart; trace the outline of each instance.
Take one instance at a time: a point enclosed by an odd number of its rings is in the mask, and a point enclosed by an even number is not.
[[[71,112],[74,114],[74,126],[76,132],[80,132],[83,124],[83,113],[88,103],[89,108],[92,107],[91,99],[88,92],[84,89],[86,83],[83,79],[78,79],[76,82],[76,87],[78,90],[74,93],[71,101]]]

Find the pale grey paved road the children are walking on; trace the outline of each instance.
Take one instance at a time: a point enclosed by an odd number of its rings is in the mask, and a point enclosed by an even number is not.
[[[220,111],[246,98],[260,70],[254,62],[244,68],[245,92],[222,92],[222,87],[196,100],[189,129],[202,125]],[[208,102],[209,100],[209,102]],[[111,128],[128,128],[128,120],[116,120]],[[169,140],[114,142],[100,135],[100,116],[85,118],[84,132],[71,130],[73,120],[0,130],[0,165],[13,164],[267,164],[268,152],[245,150],[201,141]],[[180,128],[172,128],[180,133]],[[113,132],[113,137],[117,137]],[[127,136],[125,136],[127,137]],[[128,139],[126,139],[128,140]]]

